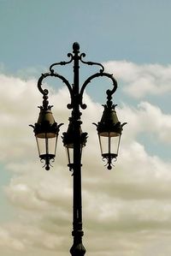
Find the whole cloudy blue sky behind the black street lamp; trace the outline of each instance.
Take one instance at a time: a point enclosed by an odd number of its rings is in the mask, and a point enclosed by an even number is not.
[[[171,2],[0,0],[0,253],[67,256],[72,246],[72,176],[62,146],[68,89],[47,80],[60,129],[50,171],[29,124],[38,120],[39,76],[68,61],[74,42],[118,82],[114,103],[127,122],[107,170],[96,128],[109,80],[88,86],[82,129],[83,243],[91,256],[171,254]],[[56,68],[72,84],[73,68]],[[80,67],[80,85],[98,67]],[[86,255],[85,254],[85,255]]]

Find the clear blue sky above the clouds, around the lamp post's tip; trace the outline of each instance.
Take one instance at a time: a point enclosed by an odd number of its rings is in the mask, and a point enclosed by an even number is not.
[[[1,62],[10,72],[62,58],[74,41],[97,61],[170,60],[170,1],[1,1]]]

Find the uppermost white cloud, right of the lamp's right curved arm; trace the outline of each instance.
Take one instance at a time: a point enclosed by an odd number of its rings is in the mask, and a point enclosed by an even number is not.
[[[123,91],[133,98],[171,92],[171,65],[138,65],[127,61],[104,63],[105,70],[124,83]]]

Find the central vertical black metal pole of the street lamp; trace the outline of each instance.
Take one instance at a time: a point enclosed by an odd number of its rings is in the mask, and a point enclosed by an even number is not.
[[[74,85],[73,111],[74,124],[74,166],[73,166],[73,232],[74,243],[70,249],[72,256],[83,256],[85,247],[82,244],[82,199],[81,199],[81,138],[80,138],[80,85],[79,85],[79,50],[80,45],[74,43]]]

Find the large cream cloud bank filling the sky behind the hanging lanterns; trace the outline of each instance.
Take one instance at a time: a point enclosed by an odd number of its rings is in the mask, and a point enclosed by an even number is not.
[[[49,89],[56,122],[65,125],[60,131],[54,167],[47,172],[39,163],[28,127],[37,122],[37,105],[42,102],[36,81],[0,75],[1,162],[3,171],[11,171],[5,193],[16,212],[10,222],[1,225],[0,250],[5,256],[9,252],[17,256],[54,256],[56,252],[66,256],[72,244],[72,173],[61,140],[68,127],[69,97],[65,88],[57,92]],[[115,169],[109,171],[103,167],[97,131],[91,124],[100,120],[103,108],[86,94],[85,104],[83,131],[89,137],[83,152],[82,188],[87,251],[93,256],[104,252],[108,256],[143,256],[152,247],[154,255],[170,255],[170,243],[165,241],[171,236],[171,163],[147,152],[138,137],[153,134],[158,143],[169,144],[171,116],[147,101],[137,108],[125,104],[118,109],[119,118],[128,124]]]

